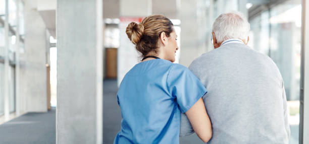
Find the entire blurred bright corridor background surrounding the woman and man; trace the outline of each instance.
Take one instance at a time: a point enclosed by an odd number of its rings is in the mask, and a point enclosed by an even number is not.
[[[213,49],[213,22],[229,11],[247,17],[248,45],[279,67],[290,143],[302,143],[305,2],[0,0],[0,143],[113,143],[121,128],[118,86],[140,60],[127,25],[167,16],[178,35],[175,62],[188,66]],[[195,134],[180,141],[202,143]]]

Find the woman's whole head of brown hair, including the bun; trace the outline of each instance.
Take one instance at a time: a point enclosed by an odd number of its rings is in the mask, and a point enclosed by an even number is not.
[[[163,15],[148,16],[140,24],[131,22],[126,29],[128,38],[142,56],[150,51],[157,52],[158,40],[162,32],[165,32],[167,37],[173,32],[173,23]]]

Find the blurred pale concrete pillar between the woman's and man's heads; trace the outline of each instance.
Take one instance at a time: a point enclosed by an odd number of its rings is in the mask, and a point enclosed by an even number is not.
[[[207,51],[207,38],[210,39],[211,33],[207,23],[207,5],[205,1],[181,0],[181,40],[179,63],[185,66],[202,53]],[[188,7],[190,6],[190,7]]]

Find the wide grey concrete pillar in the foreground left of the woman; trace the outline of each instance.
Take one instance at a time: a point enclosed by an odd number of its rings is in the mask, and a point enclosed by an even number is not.
[[[57,1],[57,143],[102,143],[102,1]]]

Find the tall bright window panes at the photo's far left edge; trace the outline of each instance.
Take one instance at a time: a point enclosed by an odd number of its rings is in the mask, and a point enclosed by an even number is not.
[[[16,107],[16,90],[15,90],[15,63],[16,63],[16,44],[17,33],[20,33],[20,44],[19,47],[23,51],[24,47],[24,14],[23,14],[23,3],[19,0],[8,1],[8,19],[6,19],[6,0],[0,0],[0,116],[4,114],[4,86],[8,85],[9,92],[9,111],[10,113],[15,112]],[[17,5],[17,2],[19,5]],[[20,9],[17,15],[17,6]],[[18,29],[19,21],[19,29]],[[5,23],[8,22],[8,35],[5,34]],[[5,69],[5,39],[8,38],[8,50],[9,50],[9,68]],[[9,82],[5,84],[5,74],[8,74]]]

